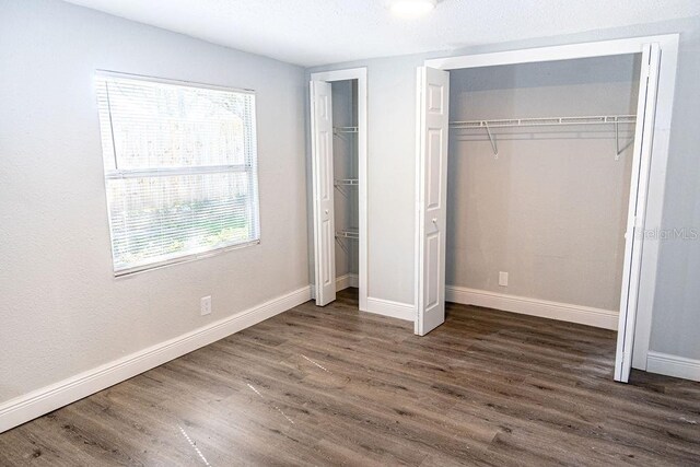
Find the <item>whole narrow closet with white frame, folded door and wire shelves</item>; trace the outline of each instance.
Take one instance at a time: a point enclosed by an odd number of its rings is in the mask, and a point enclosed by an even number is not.
[[[352,288],[364,311],[366,70],[312,74],[311,120],[316,304]]]

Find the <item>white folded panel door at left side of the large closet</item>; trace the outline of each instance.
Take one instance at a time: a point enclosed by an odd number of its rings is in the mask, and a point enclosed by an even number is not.
[[[416,334],[445,320],[445,224],[450,73],[418,69],[418,222]]]

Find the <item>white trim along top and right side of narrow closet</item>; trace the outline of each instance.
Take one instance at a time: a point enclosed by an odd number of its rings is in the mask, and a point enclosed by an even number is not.
[[[358,200],[360,202],[359,219],[359,289],[360,311],[368,311],[368,69],[351,68],[346,70],[322,71],[311,73],[312,81],[358,80]]]

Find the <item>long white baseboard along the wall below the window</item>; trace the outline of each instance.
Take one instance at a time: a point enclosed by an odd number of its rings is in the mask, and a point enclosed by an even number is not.
[[[304,287],[0,405],[0,433],[307,302]]]

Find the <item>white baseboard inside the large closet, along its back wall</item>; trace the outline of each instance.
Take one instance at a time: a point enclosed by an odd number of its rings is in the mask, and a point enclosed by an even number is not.
[[[618,323],[618,313],[609,310],[506,295],[456,285],[445,287],[445,300],[465,305],[483,306],[523,315],[579,323],[604,329],[615,330]]]

